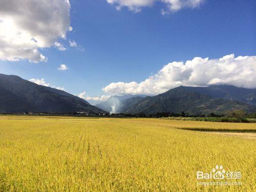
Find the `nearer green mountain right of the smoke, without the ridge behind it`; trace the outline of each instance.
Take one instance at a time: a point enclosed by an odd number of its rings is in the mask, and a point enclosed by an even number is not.
[[[197,90],[197,88],[181,86],[153,97],[126,99],[123,101],[120,113],[156,114],[159,112],[181,113],[183,111],[189,115],[200,115],[225,114],[234,110],[242,110],[247,113],[256,112],[256,107],[253,105],[234,99],[214,98]]]

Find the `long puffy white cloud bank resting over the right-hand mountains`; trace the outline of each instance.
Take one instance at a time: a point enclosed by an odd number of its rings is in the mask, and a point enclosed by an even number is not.
[[[171,62],[144,81],[110,83],[102,89],[110,95],[160,94],[178,86],[229,84],[256,88],[256,56],[226,55],[219,59],[195,57],[186,62]]]

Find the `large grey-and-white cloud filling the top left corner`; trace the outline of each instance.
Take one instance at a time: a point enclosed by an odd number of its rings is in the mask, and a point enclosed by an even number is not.
[[[70,26],[69,0],[1,0],[0,59],[30,62],[47,61],[41,49],[66,38]]]

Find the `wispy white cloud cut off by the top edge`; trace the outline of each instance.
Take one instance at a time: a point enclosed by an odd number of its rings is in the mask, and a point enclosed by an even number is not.
[[[204,0],[106,0],[109,4],[116,5],[117,10],[122,7],[128,7],[129,10],[139,12],[143,7],[150,7],[156,2],[162,2],[166,6],[166,10],[162,10],[162,14],[170,11],[178,11],[182,8],[199,7]]]

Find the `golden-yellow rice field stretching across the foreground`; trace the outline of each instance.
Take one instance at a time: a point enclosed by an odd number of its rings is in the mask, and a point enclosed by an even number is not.
[[[0,191],[256,190],[255,139],[177,128],[256,124],[0,116]],[[197,171],[217,164],[242,185],[198,185]]]

